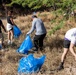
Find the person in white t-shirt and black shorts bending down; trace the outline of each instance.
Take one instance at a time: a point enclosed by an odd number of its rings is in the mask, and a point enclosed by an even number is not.
[[[68,51],[70,51],[73,54],[73,56],[75,57],[75,60],[76,60],[76,53],[74,52],[74,46],[75,45],[76,45],[76,28],[72,28],[72,29],[68,30],[65,34],[64,52],[62,54],[61,64],[58,67],[58,70],[64,69],[64,66],[63,66],[64,60],[65,60],[65,57],[66,57]]]

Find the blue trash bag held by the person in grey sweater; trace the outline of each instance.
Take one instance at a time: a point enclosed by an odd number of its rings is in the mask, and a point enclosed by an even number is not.
[[[25,40],[22,42],[20,47],[17,49],[17,52],[22,54],[28,54],[28,51],[33,48],[33,42],[30,35],[27,35]]]

